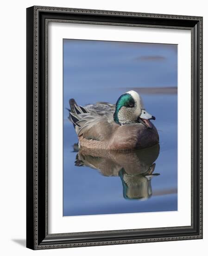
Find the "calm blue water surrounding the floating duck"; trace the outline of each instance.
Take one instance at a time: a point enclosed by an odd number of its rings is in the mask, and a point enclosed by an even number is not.
[[[156,117],[153,122],[160,138],[159,149],[138,152],[141,166],[156,164],[153,174],[159,175],[151,176],[149,182],[136,163],[133,174],[126,170],[113,173],[107,166],[110,156],[101,165],[105,154],[85,162],[96,160],[100,170],[76,166],[79,156],[74,144],[78,140],[65,109],[70,98],[82,106],[96,101],[115,103],[131,88],[164,87],[165,92],[165,88],[176,87],[176,46],[64,40],[63,58],[63,216],[177,210],[176,93],[156,94],[151,89],[141,94],[146,110]],[[123,159],[131,161],[128,157],[114,158],[121,159],[117,165],[122,168]]]

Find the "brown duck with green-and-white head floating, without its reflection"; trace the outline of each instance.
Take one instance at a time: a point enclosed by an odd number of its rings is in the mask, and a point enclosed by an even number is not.
[[[148,148],[159,142],[156,118],[145,110],[141,96],[131,90],[116,104],[97,102],[81,106],[69,100],[69,121],[78,136],[78,147],[132,150]]]

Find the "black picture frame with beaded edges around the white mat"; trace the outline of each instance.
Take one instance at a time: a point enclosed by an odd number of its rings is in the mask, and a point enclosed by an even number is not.
[[[54,249],[202,239],[202,17],[59,7],[27,13],[26,247]],[[47,20],[191,30],[191,226],[48,234]]]

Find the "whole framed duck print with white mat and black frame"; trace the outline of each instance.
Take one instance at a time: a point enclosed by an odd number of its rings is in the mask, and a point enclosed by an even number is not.
[[[202,238],[202,17],[27,8],[27,244]]]

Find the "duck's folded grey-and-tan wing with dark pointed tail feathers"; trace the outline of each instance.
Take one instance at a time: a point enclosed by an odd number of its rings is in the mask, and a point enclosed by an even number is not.
[[[112,104],[98,102],[82,107],[74,99],[69,104],[69,120],[73,123],[78,137],[96,141],[105,141],[109,137],[113,128]]]

